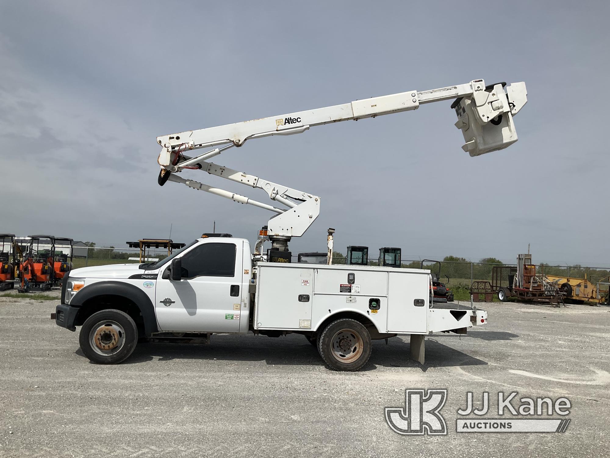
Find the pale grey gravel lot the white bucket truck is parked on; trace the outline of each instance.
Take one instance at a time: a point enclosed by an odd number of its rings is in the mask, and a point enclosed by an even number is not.
[[[303,336],[212,336],[209,345],[141,344],[93,365],[53,301],[0,298],[0,457],[608,456],[610,309],[479,304],[489,324],[426,339],[375,341],[359,373],[327,370]],[[448,388],[447,436],[401,436],[384,407],[405,388]],[[456,433],[466,391],[565,396],[564,434]],[[517,402],[517,405],[519,403]],[[495,415],[494,415],[495,414]]]

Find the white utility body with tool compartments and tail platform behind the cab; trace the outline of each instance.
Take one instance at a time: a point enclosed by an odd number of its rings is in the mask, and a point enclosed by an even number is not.
[[[315,332],[355,312],[381,334],[425,335],[487,321],[484,310],[431,308],[430,271],[375,266],[259,263],[254,329]]]

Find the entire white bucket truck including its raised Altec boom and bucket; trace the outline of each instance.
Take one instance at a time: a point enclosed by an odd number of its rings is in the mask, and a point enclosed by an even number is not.
[[[182,183],[273,213],[259,233],[254,255],[245,239],[208,237],[158,263],[76,269],[63,282],[57,324],[73,331],[82,326],[82,351],[96,363],[123,361],[134,351],[138,336],[208,340],[214,333],[248,332],[301,333],[317,346],[329,368],[346,371],[356,371],[367,362],[371,339],[409,334],[411,355],[423,363],[426,334],[465,333],[468,327],[484,324],[486,312],[432,304],[429,271],[330,265],[332,228],[328,265],[290,264],[288,242],[302,236],[318,217],[320,197],[209,159],[229,148],[241,148],[246,141],[414,111],[452,98],[451,109],[458,117],[455,126],[464,136],[462,150],[470,156],[502,150],[517,141],[513,117],[527,102],[525,83],[486,85],[483,79],[157,137],[161,186],[168,181]],[[212,149],[201,153],[204,148]],[[307,163],[307,156],[304,161],[297,159],[291,155],[290,160],[283,156],[276,160],[300,168]],[[190,170],[264,191],[273,205],[180,176]],[[267,256],[262,250],[265,241],[271,242]]]

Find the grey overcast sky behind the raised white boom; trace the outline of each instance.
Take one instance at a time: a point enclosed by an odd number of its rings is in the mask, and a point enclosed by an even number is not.
[[[610,265],[609,2],[0,1],[0,232],[253,241],[272,215],[157,185],[156,137],[483,78],[519,141],[470,158],[450,101],[213,159],[321,197],[293,252]],[[206,173],[195,180],[268,202]],[[242,189],[243,188],[243,189]]]

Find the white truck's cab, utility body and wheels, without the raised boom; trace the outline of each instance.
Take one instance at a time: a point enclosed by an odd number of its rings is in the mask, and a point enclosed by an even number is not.
[[[371,340],[411,335],[424,362],[424,336],[465,333],[483,310],[429,302],[427,270],[259,262],[248,240],[200,238],[157,263],[74,269],[62,285],[56,324],[75,331],[95,363],[116,364],[138,338],[209,340],[215,333],[300,333],[326,365],[356,371]]]

